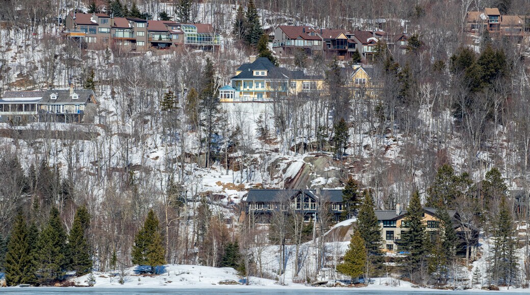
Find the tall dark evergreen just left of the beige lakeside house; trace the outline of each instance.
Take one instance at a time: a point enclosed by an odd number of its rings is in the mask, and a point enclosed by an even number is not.
[[[366,275],[370,278],[370,270],[382,266],[381,247],[383,246],[383,239],[381,239],[381,225],[379,225],[375,215],[372,196],[368,190],[363,191],[363,196],[363,204],[359,209],[359,214],[357,214],[357,228],[365,241],[366,263],[368,265]]]

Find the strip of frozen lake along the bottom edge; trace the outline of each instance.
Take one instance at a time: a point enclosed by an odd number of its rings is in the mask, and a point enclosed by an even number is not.
[[[485,294],[489,292],[484,291],[427,291],[425,289],[418,289],[414,291],[400,291],[399,289],[381,289],[381,290],[367,290],[367,289],[342,289],[342,288],[307,288],[307,289],[278,289],[270,287],[220,287],[220,288],[54,288],[54,287],[41,287],[41,288],[1,288],[0,293],[2,294],[39,294],[39,295],[51,295],[51,294],[98,294],[98,295],[111,295],[111,294],[126,294],[126,295],[140,295],[140,294],[209,294],[209,295],[231,295],[231,294],[282,294],[282,295],[321,295],[321,294],[392,294],[392,295],[436,295],[436,294],[451,294],[451,295],[469,295],[469,294]],[[519,292],[494,292],[495,294],[520,294]]]

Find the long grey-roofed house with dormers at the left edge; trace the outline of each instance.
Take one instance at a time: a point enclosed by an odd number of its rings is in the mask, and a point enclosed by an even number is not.
[[[94,91],[88,89],[6,91],[0,98],[0,122],[81,123],[96,104]]]

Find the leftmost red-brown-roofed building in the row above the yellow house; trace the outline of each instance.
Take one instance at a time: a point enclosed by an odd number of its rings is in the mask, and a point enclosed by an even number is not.
[[[311,26],[279,25],[274,31],[272,50],[279,56],[294,54],[296,50],[303,50],[308,56],[322,52],[320,31]]]

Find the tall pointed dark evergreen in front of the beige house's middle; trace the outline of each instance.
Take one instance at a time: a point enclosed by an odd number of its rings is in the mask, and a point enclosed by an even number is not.
[[[413,280],[413,273],[416,273],[423,266],[425,254],[427,251],[426,227],[423,224],[423,207],[421,206],[420,194],[414,191],[409,200],[407,214],[402,223],[402,228],[406,229],[401,232],[400,250],[407,252],[402,261],[402,268],[407,276]]]

